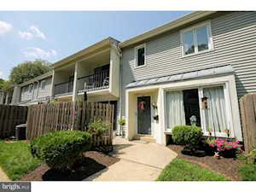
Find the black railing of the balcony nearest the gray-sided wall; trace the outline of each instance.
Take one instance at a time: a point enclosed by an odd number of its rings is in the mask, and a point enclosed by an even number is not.
[[[84,91],[102,90],[109,87],[109,69],[97,72],[92,75],[84,76],[78,79],[79,93]]]

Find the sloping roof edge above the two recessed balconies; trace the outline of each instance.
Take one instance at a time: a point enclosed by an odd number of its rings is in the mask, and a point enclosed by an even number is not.
[[[82,49],[73,55],[67,56],[66,58],[62,59],[61,61],[56,61],[51,67],[53,67],[53,68],[61,67],[63,64],[67,64],[67,62],[78,60],[83,55],[88,55],[90,53],[93,53],[94,51],[96,51],[96,49],[100,49],[100,48],[110,45],[110,44],[118,44],[118,43],[119,43],[119,41],[114,38],[111,38],[111,37],[105,38],[102,41],[99,41],[96,44],[92,44],[89,47]]]

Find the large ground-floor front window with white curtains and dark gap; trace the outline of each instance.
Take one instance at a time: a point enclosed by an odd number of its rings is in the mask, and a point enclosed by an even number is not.
[[[225,87],[216,84],[191,90],[166,90],[166,131],[172,131],[176,125],[191,125],[191,118],[195,116],[195,125],[201,126],[205,136],[211,132],[212,137],[228,137],[228,131],[232,137],[232,112]],[[207,107],[202,98],[206,98]]]

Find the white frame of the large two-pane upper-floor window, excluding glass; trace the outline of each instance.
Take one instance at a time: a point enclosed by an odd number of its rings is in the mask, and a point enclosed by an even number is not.
[[[201,26],[207,26],[207,37],[208,37],[208,48],[207,50],[202,50],[202,51],[198,51],[198,46],[197,46],[197,36],[195,33],[195,30]],[[193,38],[195,40],[195,53],[193,54],[189,54],[189,55],[185,55],[184,53],[184,47],[183,47],[183,34],[184,32],[189,32],[189,31],[193,31]],[[187,57],[187,56],[192,56],[192,55],[200,55],[203,53],[207,53],[209,51],[214,50],[214,46],[213,46],[213,38],[212,38],[212,25],[211,25],[211,21],[207,20],[205,22],[202,22],[198,25],[195,26],[190,26],[189,28],[185,28],[183,30],[180,31],[180,38],[181,38],[181,47],[182,47],[182,57]]]

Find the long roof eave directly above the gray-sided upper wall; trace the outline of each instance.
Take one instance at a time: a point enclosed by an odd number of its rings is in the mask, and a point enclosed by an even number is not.
[[[144,32],[141,35],[130,38],[130,39],[120,43],[119,47],[120,48],[125,48],[127,46],[130,46],[131,44],[136,44],[136,43],[141,42],[143,40],[146,40],[148,38],[153,38],[156,35],[160,35],[161,33],[168,32],[168,31],[173,30],[173,29],[175,29],[179,26],[186,25],[189,22],[199,20],[203,17],[206,17],[208,15],[212,15],[214,13],[217,13],[217,11],[195,11],[192,14],[185,15],[185,16],[177,19],[177,20],[173,20],[169,23],[166,23],[163,26],[156,27],[153,30],[150,30],[148,32]]]

